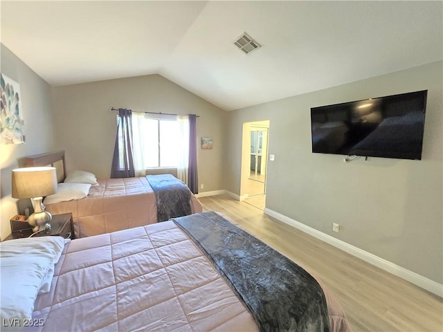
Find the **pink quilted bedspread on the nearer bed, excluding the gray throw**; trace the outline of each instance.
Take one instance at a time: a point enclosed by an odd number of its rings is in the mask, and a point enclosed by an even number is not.
[[[349,331],[341,306],[320,285],[331,331]],[[174,221],[70,241],[33,318],[44,324],[28,330],[258,331],[224,277]]]

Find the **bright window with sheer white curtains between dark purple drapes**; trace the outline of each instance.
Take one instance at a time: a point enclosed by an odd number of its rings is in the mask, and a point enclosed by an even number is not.
[[[179,122],[177,116],[132,113],[134,158],[147,168],[177,167],[179,162]],[[119,139],[122,139],[119,133]],[[122,154],[120,154],[122,156]],[[120,157],[120,167],[123,158]]]

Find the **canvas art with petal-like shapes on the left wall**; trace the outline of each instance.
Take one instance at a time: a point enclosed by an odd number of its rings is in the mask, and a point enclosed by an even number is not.
[[[24,143],[19,84],[8,76],[0,74],[0,95],[0,144]]]

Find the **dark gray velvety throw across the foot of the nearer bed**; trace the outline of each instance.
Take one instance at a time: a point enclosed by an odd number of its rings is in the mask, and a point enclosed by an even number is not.
[[[260,331],[329,331],[323,290],[296,263],[215,212],[173,220],[212,259]]]

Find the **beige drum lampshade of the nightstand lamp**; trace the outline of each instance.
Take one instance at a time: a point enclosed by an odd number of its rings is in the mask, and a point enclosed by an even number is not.
[[[12,169],[12,197],[32,199],[57,192],[55,167],[24,167]]]

